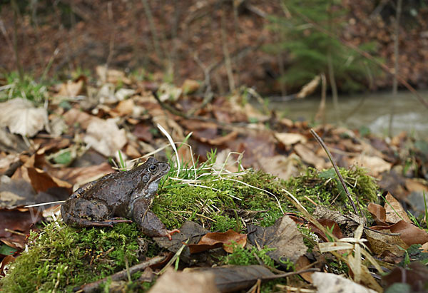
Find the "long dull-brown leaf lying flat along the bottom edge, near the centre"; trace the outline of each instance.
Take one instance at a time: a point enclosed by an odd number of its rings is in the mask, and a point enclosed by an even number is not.
[[[275,276],[269,269],[261,265],[225,267],[198,267],[184,269],[184,272],[201,272],[214,275],[215,285],[220,292],[240,292],[247,289],[258,279]],[[187,291],[190,292],[190,291]]]

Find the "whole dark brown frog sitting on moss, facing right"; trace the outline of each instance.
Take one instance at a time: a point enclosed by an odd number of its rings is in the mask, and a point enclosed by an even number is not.
[[[158,183],[168,170],[168,163],[149,158],[132,170],[110,173],[88,183],[61,206],[63,221],[75,227],[113,227],[118,222],[134,221],[144,234],[171,240],[171,235],[180,231],[166,230],[150,210]]]

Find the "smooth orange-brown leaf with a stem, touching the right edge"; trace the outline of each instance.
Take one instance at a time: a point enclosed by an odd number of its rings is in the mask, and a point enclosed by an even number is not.
[[[428,242],[427,232],[403,220],[389,226],[372,226],[370,228],[377,231],[390,230],[392,233],[399,233],[399,237],[409,246],[414,244],[423,245]]]

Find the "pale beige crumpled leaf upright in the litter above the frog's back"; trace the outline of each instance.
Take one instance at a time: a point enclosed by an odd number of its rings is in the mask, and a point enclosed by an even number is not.
[[[84,141],[98,153],[111,157],[126,145],[126,133],[113,119],[93,120],[88,125]]]

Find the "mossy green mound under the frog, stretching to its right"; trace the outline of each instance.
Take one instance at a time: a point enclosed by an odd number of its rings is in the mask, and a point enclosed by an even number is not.
[[[363,207],[376,199],[377,185],[364,170],[342,169],[341,173],[352,194],[359,195]],[[152,210],[169,229],[193,220],[212,231],[242,230],[242,210],[253,212],[249,217],[257,225],[269,226],[282,216],[277,200],[284,212],[296,212],[291,202],[282,196],[282,188],[296,195],[307,210],[315,207],[310,200],[334,208],[332,200],[335,197],[337,209],[350,210],[335,174],[330,170],[318,172],[315,169],[288,181],[251,170],[238,177],[208,175],[193,185],[177,184],[177,181],[168,179],[159,190]],[[136,264],[138,237],[144,236],[135,224],[76,229],[62,222],[59,225],[52,222],[41,232],[31,233],[29,251],[16,259],[1,283],[5,292],[49,292],[54,289],[71,292],[78,285],[125,269],[126,262],[129,266]],[[147,256],[157,255],[161,248],[148,242]]]

